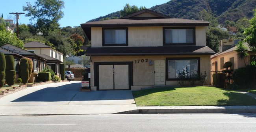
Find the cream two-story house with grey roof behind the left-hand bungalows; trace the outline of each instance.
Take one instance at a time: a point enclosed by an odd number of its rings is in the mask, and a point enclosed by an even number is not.
[[[63,62],[63,53],[51,48],[48,45],[42,44],[41,42],[33,41],[25,43],[24,49],[27,49],[28,51],[37,55],[48,55]]]

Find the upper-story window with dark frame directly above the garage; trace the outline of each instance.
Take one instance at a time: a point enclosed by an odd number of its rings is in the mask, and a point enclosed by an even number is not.
[[[128,28],[102,28],[102,46],[128,46]]]

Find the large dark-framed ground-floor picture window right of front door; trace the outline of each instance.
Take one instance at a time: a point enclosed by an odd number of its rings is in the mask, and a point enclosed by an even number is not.
[[[200,58],[167,58],[167,80],[177,80],[179,73],[188,70],[188,75],[200,73]]]

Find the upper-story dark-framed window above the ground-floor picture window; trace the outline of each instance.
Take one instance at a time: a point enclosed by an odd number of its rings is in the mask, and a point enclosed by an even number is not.
[[[163,45],[195,45],[195,27],[163,27]]]

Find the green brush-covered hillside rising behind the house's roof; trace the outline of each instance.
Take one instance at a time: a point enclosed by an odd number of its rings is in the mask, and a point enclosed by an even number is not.
[[[149,8],[152,11],[172,16],[174,18],[204,20],[200,11],[204,9],[217,18],[219,24],[226,20],[236,22],[240,18],[253,17],[256,0],[171,0],[167,3]],[[88,22],[98,21],[102,18],[120,17],[120,11],[100,16]]]

